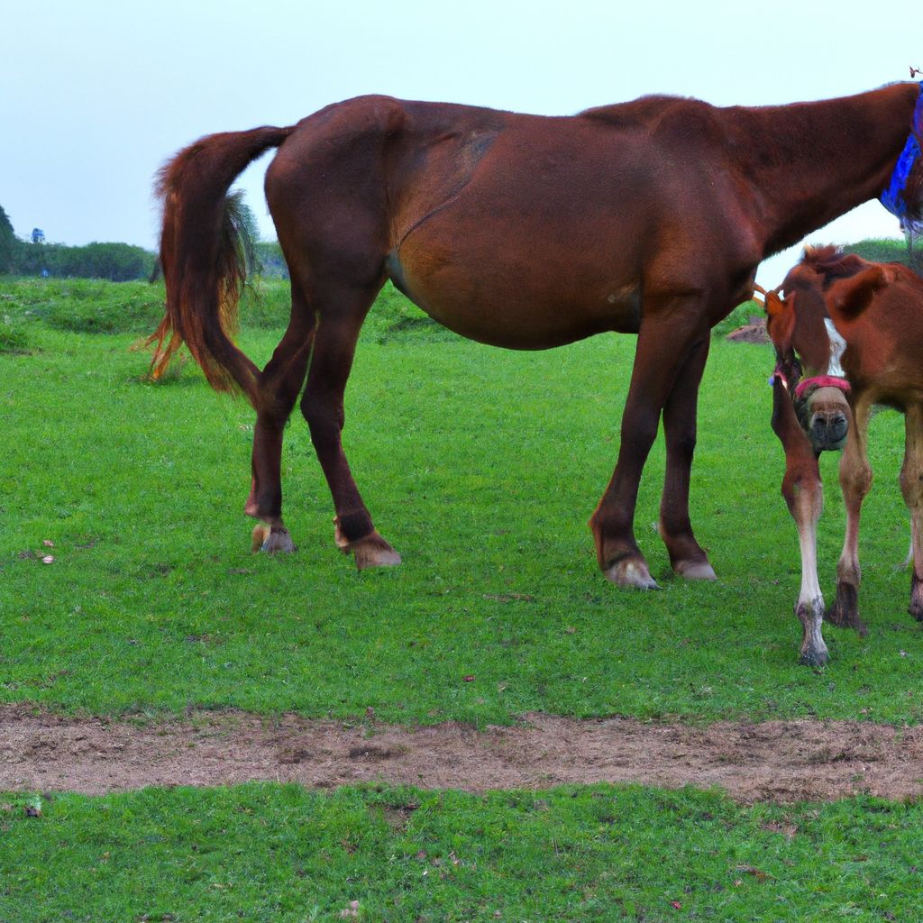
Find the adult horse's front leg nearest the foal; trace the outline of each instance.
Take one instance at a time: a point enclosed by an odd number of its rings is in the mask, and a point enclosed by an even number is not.
[[[677,375],[664,405],[666,475],[660,504],[660,535],[680,577],[714,580],[714,570],[689,522],[689,477],[696,443],[696,414],[709,337],[699,342]]]

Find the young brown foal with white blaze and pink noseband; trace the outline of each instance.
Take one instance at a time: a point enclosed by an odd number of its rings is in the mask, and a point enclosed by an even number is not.
[[[860,634],[866,630],[858,615],[857,545],[859,512],[872,481],[867,445],[869,413],[876,403],[905,414],[901,489],[910,510],[914,563],[909,611],[923,620],[923,279],[899,263],[869,263],[844,256],[832,246],[808,247],[779,289],[766,294],[766,311],[778,358],[773,429],[785,448],[782,492],[801,545],[801,592],[795,606],[804,627],[801,662],[817,665],[827,660],[821,636],[824,617]],[[811,425],[813,414],[797,411],[812,381],[828,383],[826,378],[798,382],[802,366],[814,374],[829,371],[832,350],[826,318],[845,341],[842,364],[847,380],[839,379],[836,388],[848,396],[849,408],[840,460],[845,542],[837,565],[836,602],[825,613],[817,578],[817,521],[822,506],[817,458],[822,449],[838,446],[819,446],[816,429],[824,427]],[[841,408],[830,402],[829,412],[839,414]]]

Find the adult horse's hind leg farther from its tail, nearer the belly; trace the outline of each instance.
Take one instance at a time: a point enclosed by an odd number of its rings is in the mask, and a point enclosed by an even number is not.
[[[336,543],[344,554],[354,554],[359,569],[401,563],[401,556],[375,531],[343,453],[341,438],[343,393],[353,366],[355,344],[379,289],[380,282],[370,289],[328,287],[318,294],[318,332],[301,402],[333,497]]]

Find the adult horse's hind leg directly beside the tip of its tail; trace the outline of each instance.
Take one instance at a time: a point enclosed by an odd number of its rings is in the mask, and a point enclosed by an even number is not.
[[[253,433],[252,480],[244,511],[262,520],[253,530],[254,551],[293,551],[282,523],[282,432],[305,382],[314,339],[314,313],[292,283],[292,318],[258,382],[257,423]]]

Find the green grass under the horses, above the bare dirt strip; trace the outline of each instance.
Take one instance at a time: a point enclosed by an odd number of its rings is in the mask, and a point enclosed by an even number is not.
[[[372,706],[386,721],[476,725],[533,710],[920,720],[923,632],[905,614],[909,577],[893,572],[907,542],[901,418],[872,424],[869,637],[827,629],[831,665],[800,667],[768,347],[716,342],[702,389],[692,511],[720,580],[671,576],[654,529],[659,442],[636,528],[665,589],[634,593],[599,574],[586,527],[615,462],[630,337],[525,354],[416,333],[379,345],[373,328],[347,393],[345,445],[404,564],[359,574],[333,545],[300,415],[282,462],[298,552],[252,556],[241,515],[250,408],[192,366],[146,383],[134,335],[36,320],[27,330],[34,351],[0,357],[0,701],[336,717]],[[265,360],[278,336],[249,329],[242,343]],[[842,542],[835,463],[824,459],[828,593]]]

